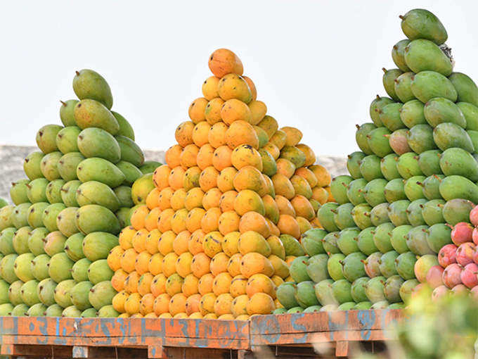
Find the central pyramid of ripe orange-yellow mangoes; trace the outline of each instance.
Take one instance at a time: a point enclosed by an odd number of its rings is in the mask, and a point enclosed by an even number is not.
[[[271,313],[286,261],[303,253],[298,239],[328,200],[328,172],[299,130],[266,115],[239,58],[219,49],[209,68],[204,97],[108,257],[124,317]]]

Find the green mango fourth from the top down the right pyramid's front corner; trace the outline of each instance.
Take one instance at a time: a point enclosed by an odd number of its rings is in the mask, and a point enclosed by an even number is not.
[[[465,115],[460,108],[443,97],[437,97],[425,103],[423,113],[432,127],[437,127],[444,122],[453,122],[463,128],[467,126]]]

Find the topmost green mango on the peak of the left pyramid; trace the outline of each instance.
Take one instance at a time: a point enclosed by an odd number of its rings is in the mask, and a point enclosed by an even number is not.
[[[110,85],[96,71],[83,69],[73,77],[73,91],[78,99],[93,99],[103,103],[108,110],[113,106]]]

